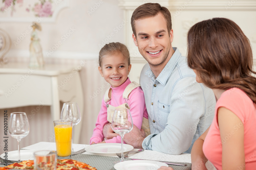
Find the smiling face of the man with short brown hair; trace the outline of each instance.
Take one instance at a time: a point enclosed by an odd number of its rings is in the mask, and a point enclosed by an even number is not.
[[[134,44],[147,62],[151,66],[166,64],[172,56],[169,51],[172,48],[173,30],[168,33],[164,16],[159,13],[154,17],[136,20],[135,30],[137,37],[133,34]]]

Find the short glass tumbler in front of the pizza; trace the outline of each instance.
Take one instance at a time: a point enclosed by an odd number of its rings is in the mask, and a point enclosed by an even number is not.
[[[54,151],[36,151],[34,169],[56,170],[57,155]]]

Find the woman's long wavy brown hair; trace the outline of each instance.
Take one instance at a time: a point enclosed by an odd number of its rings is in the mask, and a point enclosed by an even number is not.
[[[239,26],[226,18],[196,23],[188,32],[188,66],[212,89],[237,87],[256,103],[252,49]]]

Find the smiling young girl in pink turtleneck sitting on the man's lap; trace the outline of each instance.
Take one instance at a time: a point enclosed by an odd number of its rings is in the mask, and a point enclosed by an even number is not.
[[[131,70],[130,54],[127,47],[119,42],[106,44],[100,50],[99,65],[101,76],[111,87],[102,99],[101,110],[90,144],[104,140],[103,126],[111,123],[115,109],[119,108],[130,108],[133,124],[138,128],[143,128],[146,135],[149,135],[148,114],[143,91],[140,85],[135,82],[132,83],[127,77]],[[121,143],[121,137],[116,136],[104,142]]]

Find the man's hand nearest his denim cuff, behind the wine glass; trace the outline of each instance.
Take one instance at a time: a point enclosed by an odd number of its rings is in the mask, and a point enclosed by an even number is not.
[[[133,125],[132,131],[124,135],[124,142],[128,145],[132,145],[136,149],[143,149],[142,142],[146,135],[143,129],[138,129]]]

